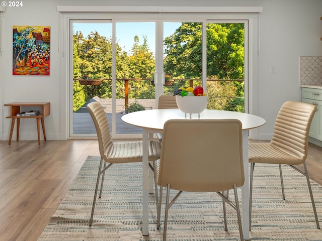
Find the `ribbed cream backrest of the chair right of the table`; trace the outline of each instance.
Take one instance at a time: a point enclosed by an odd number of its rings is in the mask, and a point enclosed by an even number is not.
[[[308,152],[308,134],[316,106],[287,101],[276,117],[272,144],[283,148],[305,161]]]

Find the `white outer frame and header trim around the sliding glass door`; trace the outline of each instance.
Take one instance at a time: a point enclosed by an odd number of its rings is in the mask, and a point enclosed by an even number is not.
[[[70,20],[112,20],[113,21],[142,21],[152,22],[160,20],[165,22],[202,22],[215,21],[248,21],[248,112],[258,113],[258,52],[259,52],[259,13],[263,7],[109,7],[109,6],[57,6],[59,12],[59,46],[61,59],[61,95],[60,95],[60,136],[61,139],[70,138],[69,135],[69,93],[70,93],[70,46],[69,22]],[[115,27],[115,26],[114,26]],[[158,30],[157,30],[158,29]],[[112,28],[115,31],[115,28]],[[156,31],[160,28],[156,26]],[[157,33],[156,32],[156,35]],[[115,32],[114,32],[115,36]],[[163,35],[162,35],[163,36]],[[115,39],[115,38],[113,38]],[[156,46],[157,45],[156,40]],[[115,44],[115,43],[114,43]],[[162,50],[163,51],[163,50]],[[157,66],[156,66],[157,67]],[[115,73],[115,70],[113,71]],[[72,77],[72,76],[71,76]],[[157,97],[157,93],[156,93]],[[115,119],[115,118],[114,118]],[[250,132],[251,138],[258,138],[257,129]],[[118,135],[114,136],[118,138]],[[135,137],[134,137],[135,138]]]

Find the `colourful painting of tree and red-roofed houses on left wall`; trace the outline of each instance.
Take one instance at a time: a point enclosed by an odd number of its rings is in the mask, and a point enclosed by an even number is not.
[[[12,73],[13,75],[49,75],[49,26],[13,26]]]

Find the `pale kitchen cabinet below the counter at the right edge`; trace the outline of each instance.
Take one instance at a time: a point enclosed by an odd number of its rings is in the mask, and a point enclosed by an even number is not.
[[[302,102],[316,105],[309,136],[322,141],[322,89],[302,87]]]

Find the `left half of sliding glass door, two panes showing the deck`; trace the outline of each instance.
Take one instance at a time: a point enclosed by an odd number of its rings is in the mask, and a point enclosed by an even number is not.
[[[155,22],[72,22],[73,81],[70,136],[96,135],[87,111],[100,102],[114,136],[141,134],[122,122],[132,111],[155,108]]]

